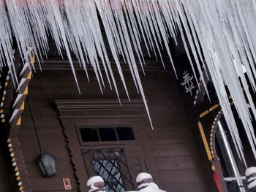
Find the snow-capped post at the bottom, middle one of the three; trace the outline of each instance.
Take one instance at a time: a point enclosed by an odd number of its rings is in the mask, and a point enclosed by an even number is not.
[[[136,177],[138,191],[145,192],[165,192],[158,188],[157,184],[153,182],[153,177],[148,173],[140,173]]]

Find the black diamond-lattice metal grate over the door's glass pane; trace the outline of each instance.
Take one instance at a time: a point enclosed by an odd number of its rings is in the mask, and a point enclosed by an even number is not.
[[[106,191],[134,190],[123,149],[86,150],[84,154],[91,158],[94,173],[105,180]]]

